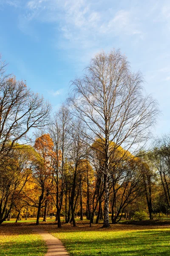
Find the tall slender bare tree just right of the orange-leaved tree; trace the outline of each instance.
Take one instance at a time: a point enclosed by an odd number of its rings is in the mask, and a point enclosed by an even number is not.
[[[64,172],[70,150],[70,120],[71,115],[68,109],[62,105],[54,116],[54,122],[48,128],[54,143],[51,157],[53,158],[55,195],[52,195],[52,197],[57,208],[58,227],[61,227],[60,212],[64,193]]]

